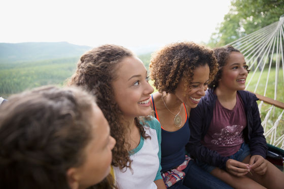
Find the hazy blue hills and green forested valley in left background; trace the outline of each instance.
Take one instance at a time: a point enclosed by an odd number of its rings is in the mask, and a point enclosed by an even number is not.
[[[24,44],[26,49],[23,44],[0,44],[0,96],[4,98],[43,85],[64,85],[80,56],[91,49],[65,42]],[[147,68],[150,56],[139,56]]]

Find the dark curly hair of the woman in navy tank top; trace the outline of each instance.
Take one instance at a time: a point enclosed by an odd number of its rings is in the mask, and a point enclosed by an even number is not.
[[[210,70],[210,82],[218,71],[213,51],[193,42],[173,43],[152,54],[151,79],[160,93],[174,93],[183,78],[186,91],[191,86],[194,69],[206,64]]]

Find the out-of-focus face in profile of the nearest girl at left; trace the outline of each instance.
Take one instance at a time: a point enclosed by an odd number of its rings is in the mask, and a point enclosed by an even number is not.
[[[83,151],[85,162],[73,168],[79,189],[99,183],[110,173],[112,149],[116,143],[110,136],[109,124],[97,105],[93,105],[88,116],[92,125],[92,139]]]

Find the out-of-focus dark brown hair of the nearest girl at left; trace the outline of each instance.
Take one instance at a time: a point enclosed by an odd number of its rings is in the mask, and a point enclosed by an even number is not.
[[[85,162],[94,97],[41,87],[0,106],[1,188],[69,188],[66,171]]]

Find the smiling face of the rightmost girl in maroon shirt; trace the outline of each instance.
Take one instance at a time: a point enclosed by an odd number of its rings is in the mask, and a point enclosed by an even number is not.
[[[218,87],[232,91],[244,90],[247,77],[246,68],[244,56],[239,52],[231,52],[226,65],[223,66],[222,77]]]

